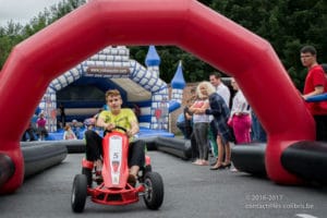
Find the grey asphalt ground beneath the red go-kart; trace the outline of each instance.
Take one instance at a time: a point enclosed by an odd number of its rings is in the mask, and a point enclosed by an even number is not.
[[[230,170],[210,171],[160,152],[149,152],[153,171],[161,174],[165,199],[148,210],[143,198],[128,206],[86,202],[83,214],[71,209],[73,178],[82,154],[28,180],[14,194],[0,196],[3,218],[325,218],[327,189],[277,185],[267,179]]]

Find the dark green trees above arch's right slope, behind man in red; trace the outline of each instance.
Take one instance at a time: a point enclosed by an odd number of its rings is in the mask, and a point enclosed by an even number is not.
[[[306,74],[300,49],[313,45],[318,50],[318,61],[327,61],[325,0],[219,0],[209,7],[267,39],[300,90]]]

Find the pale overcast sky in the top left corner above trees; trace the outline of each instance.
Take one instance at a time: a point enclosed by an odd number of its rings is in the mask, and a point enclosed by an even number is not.
[[[0,0],[0,25],[5,26],[10,20],[28,23],[45,8],[50,8],[62,0]]]

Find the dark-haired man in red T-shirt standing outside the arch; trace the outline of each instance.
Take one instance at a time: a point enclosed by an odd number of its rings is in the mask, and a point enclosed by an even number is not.
[[[302,65],[307,68],[302,97],[327,93],[327,78],[324,69],[317,63],[317,51],[313,46],[304,46],[300,50]],[[316,123],[316,140],[327,141],[327,101],[305,102]]]

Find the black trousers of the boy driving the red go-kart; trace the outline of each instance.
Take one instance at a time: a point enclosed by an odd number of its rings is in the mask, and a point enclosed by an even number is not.
[[[85,132],[86,140],[86,159],[95,161],[102,157],[102,137],[96,132],[88,130]],[[137,140],[130,143],[129,146],[129,167],[138,166],[144,167],[145,165],[145,142]]]

